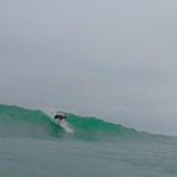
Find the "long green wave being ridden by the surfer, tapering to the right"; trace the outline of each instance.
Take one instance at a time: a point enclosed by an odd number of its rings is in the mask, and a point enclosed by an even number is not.
[[[31,137],[48,139],[85,140],[176,140],[174,137],[152,135],[127,128],[121,124],[104,122],[97,117],[81,117],[65,113],[74,134],[66,132],[40,110],[26,110],[16,105],[0,104],[0,137]]]

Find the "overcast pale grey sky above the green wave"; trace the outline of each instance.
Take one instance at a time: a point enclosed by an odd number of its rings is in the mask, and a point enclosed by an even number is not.
[[[176,0],[0,0],[0,103],[177,136]]]

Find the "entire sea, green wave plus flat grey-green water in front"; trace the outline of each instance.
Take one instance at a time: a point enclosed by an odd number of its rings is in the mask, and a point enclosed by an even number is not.
[[[1,104],[0,177],[177,177],[177,138],[65,114]]]

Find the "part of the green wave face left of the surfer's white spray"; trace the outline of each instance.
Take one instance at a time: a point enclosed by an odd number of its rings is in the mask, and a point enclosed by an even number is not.
[[[52,138],[62,135],[62,128],[53,124],[41,111],[0,105],[0,136]]]

